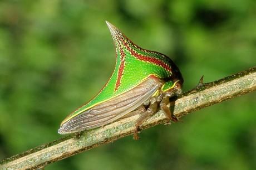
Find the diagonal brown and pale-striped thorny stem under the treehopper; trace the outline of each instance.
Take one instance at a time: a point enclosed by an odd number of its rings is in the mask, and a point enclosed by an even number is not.
[[[175,101],[174,115],[180,118],[189,112],[254,90],[256,90],[256,67],[212,83],[200,84],[195,89],[186,92]],[[35,169],[44,167],[49,163],[131,135],[138,116],[135,115],[105,127],[85,131],[78,139],[71,135],[17,154],[0,161],[0,169]],[[141,129],[166,122],[168,120],[166,120],[163,112],[159,111],[147,120]]]

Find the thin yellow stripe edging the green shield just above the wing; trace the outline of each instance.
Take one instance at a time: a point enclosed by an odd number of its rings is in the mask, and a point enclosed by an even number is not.
[[[139,83],[137,83],[137,85],[141,84],[143,81],[145,81],[145,80],[146,80],[147,78],[149,78],[151,75],[154,75],[156,78],[158,78],[157,75],[155,75],[155,74],[150,74],[150,75],[147,76],[146,78],[144,78],[144,79],[142,79],[141,81],[139,81]],[[137,85],[135,85],[135,86],[137,86]],[[135,86],[134,86],[134,87],[135,87]],[[130,89],[129,89],[129,90],[130,90]],[[129,90],[127,90],[127,91],[129,91]],[[112,96],[112,97],[110,97],[109,99],[106,99],[106,100],[102,100],[102,101],[100,101],[100,102],[97,102],[96,104],[93,104],[93,105],[91,105],[91,106],[89,106],[89,107],[86,107],[85,109],[83,109],[83,110],[77,112],[76,114],[74,114],[74,115],[72,115],[72,116],[67,116],[67,117],[61,122],[61,126],[62,126],[65,122],[71,120],[73,117],[75,117],[75,116],[81,114],[82,112],[84,112],[84,111],[86,111],[86,110],[88,110],[88,109],[91,109],[92,107],[94,107],[94,106],[96,106],[96,105],[99,105],[99,104],[101,104],[102,102],[111,100],[111,99],[113,99],[113,98],[116,97],[116,96],[119,96],[119,95],[121,95],[121,94],[124,94],[124,93],[127,92],[127,91],[124,91],[124,92],[122,92],[122,93],[120,93],[120,94],[118,94],[118,95]],[[83,107],[83,106],[82,106],[82,107]],[[80,107],[80,108],[81,108],[81,107]],[[78,108],[78,109],[79,109],[79,108]],[[72,113],[71,113],[71,114],[72,114]]]

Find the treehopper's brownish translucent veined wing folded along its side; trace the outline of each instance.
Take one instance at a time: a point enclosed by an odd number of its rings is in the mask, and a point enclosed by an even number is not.
[[[163,84],[159,79],[149,77],[133,89],[81,112],[63,123],[58,133],[73,133],[113,122],[142,105],[161,85]]]

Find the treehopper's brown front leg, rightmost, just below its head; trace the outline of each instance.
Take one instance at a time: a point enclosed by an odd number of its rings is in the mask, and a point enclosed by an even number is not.
[[[160,102],[160,107],[163,110],[165,116],[174,122],[178,122],[178,119],[171,113],[170,106],[174,105],[174,102],[169,101],[170,96],[163,97],[162,101]]]

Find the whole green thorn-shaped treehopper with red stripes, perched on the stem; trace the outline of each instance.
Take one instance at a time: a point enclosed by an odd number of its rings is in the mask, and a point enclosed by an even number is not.
[[[74,133],[106,125],[121,117],[141,114],[134,138],[142,122],[160,108],[169,119],[169,98],[181,92],[183,78],[168,56],[140,48],[106,22],[116,48],[116,66],[102,90],[87,104],[62,121],[58,133]],[[145,105],[145,102],[148,104]]]

